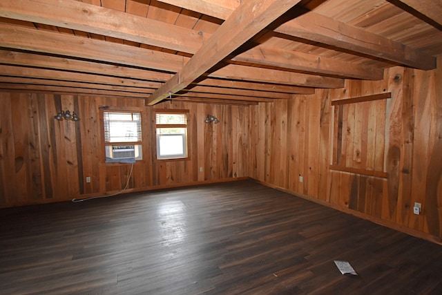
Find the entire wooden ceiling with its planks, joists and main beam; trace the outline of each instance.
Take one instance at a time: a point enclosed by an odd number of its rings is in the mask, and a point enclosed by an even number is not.
[[[2,0],[0,89],[257,104],[436,67],[442,0]]]

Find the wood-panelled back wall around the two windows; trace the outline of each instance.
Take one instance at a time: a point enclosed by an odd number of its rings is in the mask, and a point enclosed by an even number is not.
[[[190,157],[154,160],[153,108],[144,107],[142,99],[0,92],[0,207],[101,196],[124,188],[131,165],[104,163],[99,106],[144,110],[143,160],[133,165],[128,191],[248,175],[247,106],[157,104],[155,108],[189,110]],[[54,120],[61,109],[75,110],[81,120]],[[205,124],[207,114],[220,123]]]

